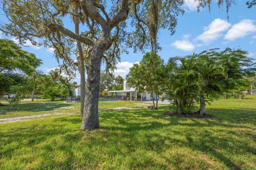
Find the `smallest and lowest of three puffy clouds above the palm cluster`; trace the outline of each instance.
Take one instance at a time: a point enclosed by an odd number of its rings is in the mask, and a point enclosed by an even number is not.
[[[183,35],[183,40],[174,41],[172,46],[185,52],[190,52],[195,49],[195,45],[188,40],[187,35]]]

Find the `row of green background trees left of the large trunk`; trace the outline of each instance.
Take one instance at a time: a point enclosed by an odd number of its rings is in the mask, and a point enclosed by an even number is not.
[[[42,61],[34,54],[22,50],[12,40],[0,39],[0,99],[6,94],[11,108],[31,94],[54,100],[65,99],[73,94],[73,84],[61,75],[61,69],[50,71],[49,75],[38,71]]]

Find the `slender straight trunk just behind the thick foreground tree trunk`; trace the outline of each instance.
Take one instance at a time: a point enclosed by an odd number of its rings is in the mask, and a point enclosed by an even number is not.
[[[75,7],[75,13],[78,14],[78,7]],[[78,16],[75,16],[75,33],[79,35],[79,19]],[[79,55],[79,64],[80,64],[80,81],[81,81],[81,117],[84,114],[84,100],[85,100],[85,66],[84,66],[84,55],[81,46],[81,42],[76,40],[78,55]]]

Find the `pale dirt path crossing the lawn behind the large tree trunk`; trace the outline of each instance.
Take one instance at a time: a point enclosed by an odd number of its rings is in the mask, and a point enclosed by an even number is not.
[[[120,110],[133,110],[133,109],[141,109],[141,108],[142,107],[140,108],[115,107],[115,108],[99,109],[99,111],[120,111]],[[42,114],[42,115],[34,115],[34,116],[0,118],[0,124],[12,123],[12,122],[23,122],[23,121],[35,120],[38,118],[48,118],[48,117],[55,117],[55,116],[61,116],[61,115],[74,115],[74,114],[78,114],[78,113],[57,113],[57,114]]]

